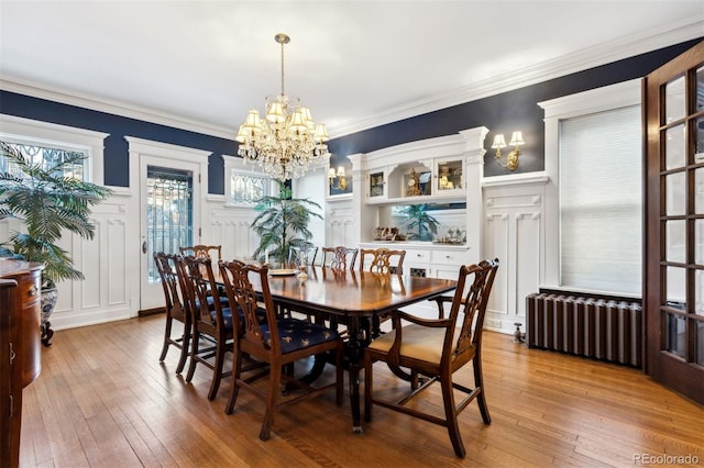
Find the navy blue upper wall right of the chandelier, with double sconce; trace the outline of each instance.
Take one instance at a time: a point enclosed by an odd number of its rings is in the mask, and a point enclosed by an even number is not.
[[[542,109],[538,107],[538,102],[634,78],[642,78],[700,41],[689,41],[538,85],[332,140],[328,144],[333,154],[331,165],[351,168],[352,165],[346,160],[346,156],[351,154],[369,153],[416,140],[451,135],[461,130],[483,125],[490,129],[490,134],[484,142],[485,148],[490,153],[486,156],[486,161],[490,161],[493,155],[491,145],[495,133],[504,133],[508,142],[510,133],[520,130],[526,145],[520,148],[521,156],[516,172],[543,170],[544,115]],[[505,174],[509,174],[508,170],[496,164],[487,163],[484,166],[485,176]]]

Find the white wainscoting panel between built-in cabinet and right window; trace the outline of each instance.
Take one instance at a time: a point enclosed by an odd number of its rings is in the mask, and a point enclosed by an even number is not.
[[[538,290],[544,252],[544,185],[529,176],[484,182],[483,254],[497,257],[499,268],[485,325],[513,333],[526,331],[526,296]]]

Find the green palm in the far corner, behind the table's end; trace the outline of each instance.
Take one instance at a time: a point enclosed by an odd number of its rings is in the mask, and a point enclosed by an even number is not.
[[[254,250],[254,258],[262,260],[268,256],[275,261],[286,263],[292,245],[308,241],[312,233],[308,229],[311,218],[322,219],[311,208],[321,207],[309,199],[292,198],[292,190],[282,180],[278,183],[277,197],[263,197],[256,201],[254,211],[258,214],[251,227],[260,236],[260,245]]]

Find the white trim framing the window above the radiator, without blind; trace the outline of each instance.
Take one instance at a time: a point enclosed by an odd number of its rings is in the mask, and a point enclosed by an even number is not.
[[[544,167],[549,178],[546,185],[544,255],[541,256],[540,287],[559,290],[563,289],[560,286],[560,120],[641,105],[641,79],[538,102],[538,105],[544,111]],[[569,289],[574,292],[608,293]]]

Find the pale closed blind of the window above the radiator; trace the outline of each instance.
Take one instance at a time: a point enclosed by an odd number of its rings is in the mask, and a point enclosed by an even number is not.
[[[640,105],[560,120],[560,282],[641,293]]]

